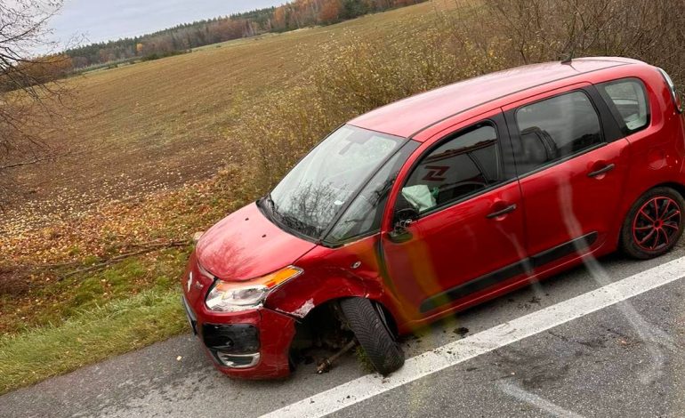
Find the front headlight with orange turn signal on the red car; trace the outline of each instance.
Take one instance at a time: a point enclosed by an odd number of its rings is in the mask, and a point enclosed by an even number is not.
[[[301,274],[302,269],[288,266],[246,282],[216,280],[207,294],[205,305],[219,312],[259,308],[272,289]]]

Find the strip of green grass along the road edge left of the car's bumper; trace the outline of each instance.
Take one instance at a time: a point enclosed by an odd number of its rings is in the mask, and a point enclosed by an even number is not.
[[[0,337],[0,393],[139,349],[187,330],[180,292],[147,290],[59,326]]]

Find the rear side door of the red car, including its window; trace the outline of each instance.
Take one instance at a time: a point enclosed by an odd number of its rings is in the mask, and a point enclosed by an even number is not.
[[[606,103],[576,84],[504,111],[533,266],[598,248],[616,229],[628,170],[628,142]]]

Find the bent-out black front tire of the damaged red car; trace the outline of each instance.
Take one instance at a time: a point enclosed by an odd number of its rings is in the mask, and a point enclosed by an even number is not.
[[[378,373],[385,376],[405,364],[404,352],[372,301],[343,299],[340,307],[352,333]]]

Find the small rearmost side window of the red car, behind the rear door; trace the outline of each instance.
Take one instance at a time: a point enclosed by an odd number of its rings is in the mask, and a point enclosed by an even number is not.
[[[649,101],[640,80],[625,78],[600,84],[598,88],[626,134],[638,132],[649,125]]]

